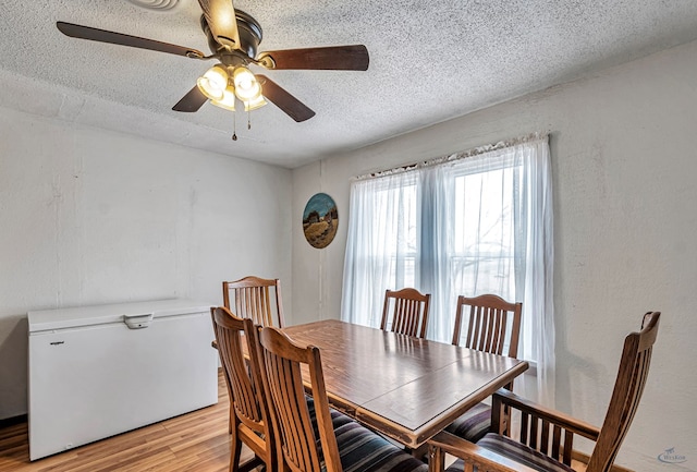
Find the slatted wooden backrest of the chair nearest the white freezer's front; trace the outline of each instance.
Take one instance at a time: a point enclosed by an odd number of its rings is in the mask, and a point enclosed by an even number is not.
[[[267,421],[268,410],[261,389],[261,372],[256,358],[247,364],[244,358],[243,343],[253,347],[258,343],[254,323],[248,318],[234,316],[224,306],[211,307],[211,317],[216,331],[216,341],[222,368],[229,382],[228,390],[232,399],[231,408],[247,427],[272,439],[271,426]],[[250,331],[243,338],[242,332]],[[247,349],[253,351],[253,349]],[[256,352],[255,352],[256,354]],[[252,355],[252,353],[250,353]]]

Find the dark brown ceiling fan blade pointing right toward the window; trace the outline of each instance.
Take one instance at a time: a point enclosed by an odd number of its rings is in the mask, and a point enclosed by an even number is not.
[[[259,62],[267,69],[366,71],[369,57],[365,46],[352,45],[265,51]]]

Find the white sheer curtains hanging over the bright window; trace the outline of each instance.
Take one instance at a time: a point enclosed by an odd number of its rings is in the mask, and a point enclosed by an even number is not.
[[[547,137],[353,182],[342,319],[379,326],[384,290],[431,293],[428,337],[452,337],[457,295],[523,302],[519,356],[554,401]]]

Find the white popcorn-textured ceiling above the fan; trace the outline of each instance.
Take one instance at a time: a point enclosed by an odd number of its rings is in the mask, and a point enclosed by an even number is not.
[[[236,0],[260,51],[364,44],[367,72],[268,71],[317,112],[172,106],[212,62],[63,36],[57,21],[208,51],[196,0],[4,0],[0,106],[294,168],[697,38],[694,0]],[[254,70],[261,72],[260,70]]]

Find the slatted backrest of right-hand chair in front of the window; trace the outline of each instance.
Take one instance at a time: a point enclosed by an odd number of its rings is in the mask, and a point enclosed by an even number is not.
[[[502,355],[508,344],[505,355],[517,358],[522,311],[522,303],[510,303],[493,294],[474,298],[460,295],[452,343],[460,346],[462,324],[468,319],[465,348]]]

